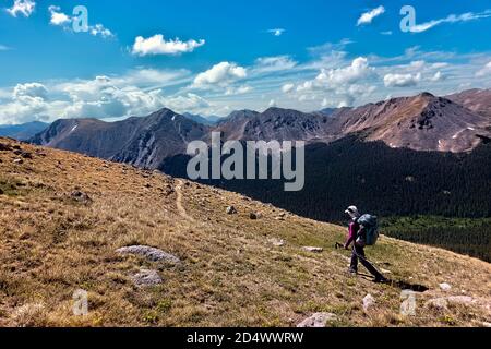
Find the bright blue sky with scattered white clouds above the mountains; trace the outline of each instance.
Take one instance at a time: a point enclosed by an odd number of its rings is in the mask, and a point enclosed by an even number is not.
[[[74,31],[76,5],[88,32]],[[489,88],[490,33],[488,0],[0,0],[0,123]]]

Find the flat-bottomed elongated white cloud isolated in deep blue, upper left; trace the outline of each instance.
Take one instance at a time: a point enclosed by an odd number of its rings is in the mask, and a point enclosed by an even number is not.
[[[194,49],[205,45],[205,40],[181,41],[179,38],[166,40],[164,35],[157,34],[149,38],[139,36],[133,44],[132,53],[136,56],[152,55],[181,55],[192,52]]]

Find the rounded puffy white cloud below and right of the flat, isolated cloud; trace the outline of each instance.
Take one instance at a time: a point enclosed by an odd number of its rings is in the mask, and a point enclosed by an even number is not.
[[[215,64],[212,69],[197,74],[192,87],[207,88],[211,86],[227,87],[230,83],[246,79],[248,72],[246,68],[236,63],[221,62]]]

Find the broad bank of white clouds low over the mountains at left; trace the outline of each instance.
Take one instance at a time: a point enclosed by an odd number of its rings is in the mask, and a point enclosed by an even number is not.
[[[23,123],[33,120],[53,121],[57,118],[118,119],[145,116],[164,107],[177,111],[193,111],[211,106],[196,94],[166,96],[161,88],[143,87],[151,83],[148,74],[156,73],[171,85],[187,77],[189,72],[142,70],[127,75],[96,76],[93,80],[44,85],[19,84],[10,97],[0,92],[0,123]]]

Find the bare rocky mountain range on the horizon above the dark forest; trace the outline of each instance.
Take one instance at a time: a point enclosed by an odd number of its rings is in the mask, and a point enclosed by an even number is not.
[[[446,97],[422,93],[310,113],[280,108],[240,110],[216,122],[163,109],[112,123],[58,120],[32,142],[151,168],[169,156],[183,154],[188,142],[207,140],[212,131],[223,132],[224,140],[308,143],[331,143],[362,134],[366,141],[382,141],[393,148],[464,153],[491,139],[490,100],[491,89]]]

